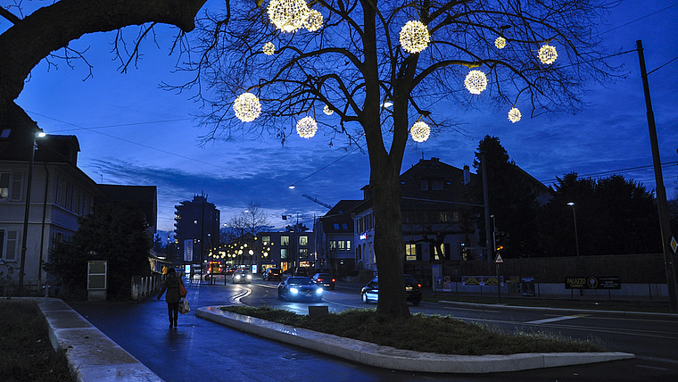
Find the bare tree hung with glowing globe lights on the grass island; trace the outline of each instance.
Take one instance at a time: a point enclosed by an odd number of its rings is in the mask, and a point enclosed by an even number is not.
[[[377,311],[388,316],[409,315],[399,175],[412,123],[424,120],[440,133],[451,120],[436,105],[444,109],[475,100],[504,112],[515,105],[530,115],[573,110],[582,105],[588,79],[615,75],[603,60],[596,29],[608,2],[315,0],[310,7],[322,14],[322,28],[291,33],[276,29],[268,9],[256,3],[240,2],[199,23],[201,45],[186,67],[196,71],[195,80],[174,88],[203,91],[196,97],[210,106],[203,119],[211,127],[206,141],[229,139],[233,129],[244,129],[269,132],[285,143],[295,121],[310,115],[330,143],[341,137],[345,145],[367,146],[380,278]],[[430,35],[420,53],[399,39],[408,21],[420,21]],[[263,53],[268,42],[275,54]],[[545,45],[557,49],[555,62],[540,60]],[[486,74],[481,96],[464,89],[472,68]],[[262,107],[249,124],[232,112],[244,92],[258,95]],[[326,105],[334,115],[322,114]]]

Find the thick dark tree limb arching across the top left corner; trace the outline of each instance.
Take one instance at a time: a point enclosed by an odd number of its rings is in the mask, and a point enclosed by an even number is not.
[[[30,71],[51,52],[94,32],[159,22],[188,32],[206,0],[62,0],[0,35],[0,120]]]

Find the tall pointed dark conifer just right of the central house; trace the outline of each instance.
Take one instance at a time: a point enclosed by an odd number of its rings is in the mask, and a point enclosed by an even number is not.
[[[487,183],[490,213],[498,231],[503,232],[503,258],[533,257],[537,249],[538,203],[534,186],[523,170],[509,160],[509,154],[500,144],[498,137],[486,136],[475,152],[474,166],[478,176],[475,182],[477,203],[483,203],[483,177],[481,158],[484,155],[487,169]],[[481,243],[484,243],[485,223],[480,221]],[[492,228],[492,227],[491,227]],[[490,237],[492,245],[492,237]]]

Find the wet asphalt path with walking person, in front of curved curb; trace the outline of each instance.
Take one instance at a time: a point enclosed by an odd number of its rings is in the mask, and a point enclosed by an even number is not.
[[[383,370],[241,333],[195,316],[195,308],[229,304],[238,289],[186,283],[192,311],[170,328],[167,304],[70,303],[95,327],[168,382],[173,381],[636,381],[676,377],[647,373],[635,360],[486,375],[439,375]],[[629,372],[632,370],[633,372]],[[643,374],[643,372],[646,372]],[[651,377],[648,375],[650,374]],[[645,378],[643,378],[643,375]],[[650,377],[650,378],[647,378]],[[657,379],[656,379],[657,378]]]

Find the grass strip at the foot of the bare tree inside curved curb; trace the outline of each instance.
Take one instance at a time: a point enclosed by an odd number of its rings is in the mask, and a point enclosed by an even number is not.
[[[273,321],[296,328],[344,336],[377,345],[416,352],[484,355],[517,353],[596,353],[604,349],[550,333],[505,333],[451,316],[413,314],[408,319],[387,319],[372,309],[350,309],[325,317],[299,315],[269,306],[224,306],[224,311]]]

